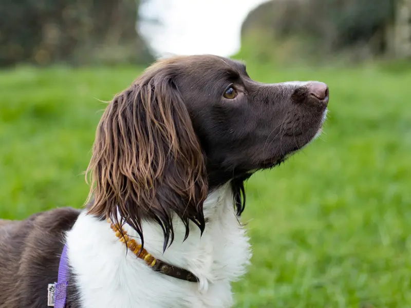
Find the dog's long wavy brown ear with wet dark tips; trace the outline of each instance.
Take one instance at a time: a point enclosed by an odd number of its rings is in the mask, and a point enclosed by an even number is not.
[[[146,72],[108,105],[87,174],[94,198],[88,214],[129,224],[142,244],[143,220],[160,224],[164,249],[174,239],[174,214],[185,238],[190,221],[204,230],[204,157],[181,94],[161,70]]]

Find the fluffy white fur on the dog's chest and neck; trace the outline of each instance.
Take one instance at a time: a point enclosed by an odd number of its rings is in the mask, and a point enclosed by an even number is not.
[[[177,308],[230,307],[231,281],[245,273],[251,257],[245,229],[233,209],[233,195],[225,186],[204,203],[206,229],[185,229],[176,219],[175,239],[163,254],[163,234],[154,223],[143,224],[144,247],[155,258],[188,269],[199,283],[178,280],[151,268],[126,249],[106,221],[80,215],[67,234],[70,266],[77,277],[82,307]],[[134,230],[125,228],[131,236]]]

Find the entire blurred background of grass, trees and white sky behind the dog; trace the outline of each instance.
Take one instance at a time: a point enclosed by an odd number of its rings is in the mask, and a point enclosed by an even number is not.
[[[236,307],[411,307],[411,0],[2,0],[0,217],[81,207],[106,103],[214,53],[330,88],[320,139],[247,184]]]

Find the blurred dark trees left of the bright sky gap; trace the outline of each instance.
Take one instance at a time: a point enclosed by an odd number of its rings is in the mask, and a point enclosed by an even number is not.
[[[138,6],[136,0],[2,0],[0,66],[151,61],[136,31]]]

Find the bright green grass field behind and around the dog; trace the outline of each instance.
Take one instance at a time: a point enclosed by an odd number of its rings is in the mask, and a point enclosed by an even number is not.
[[[247,184],[254,256],[236,307],[411,307],[411,70],[248,64],[330,87],[324,134]],[[139,68],[0,71],[0,217],[81,207],[96,125]]]

